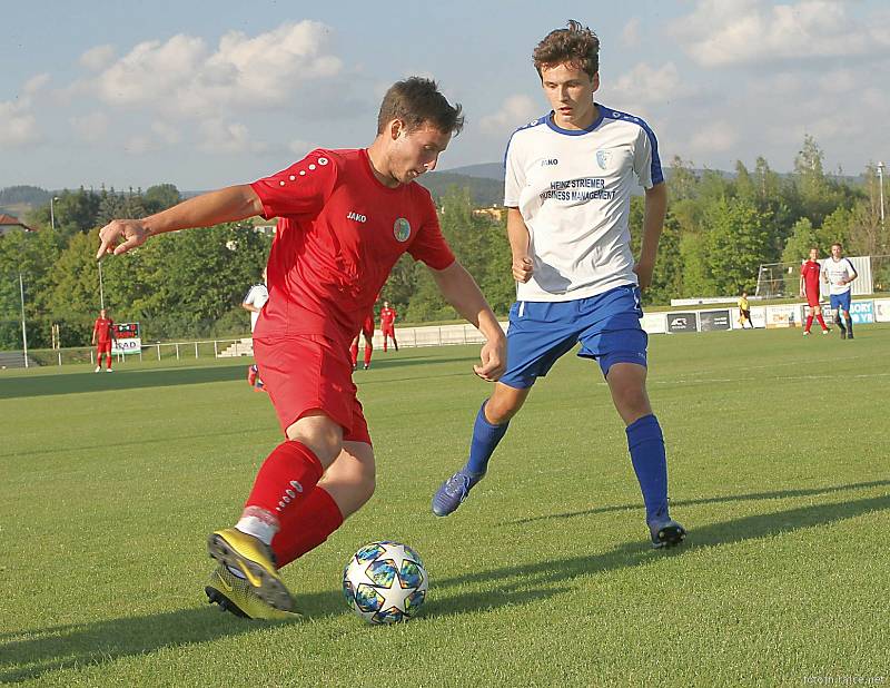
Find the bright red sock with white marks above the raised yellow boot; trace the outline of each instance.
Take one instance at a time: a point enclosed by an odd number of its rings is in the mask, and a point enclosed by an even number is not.
[[[305,501],[324,472],[305,444],[283,442],[263,462],[245,508],[259,507],[280,519],[288,508]]]

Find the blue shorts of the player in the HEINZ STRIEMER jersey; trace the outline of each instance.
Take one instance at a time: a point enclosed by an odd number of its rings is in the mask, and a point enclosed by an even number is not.
[[[581,342],[577,355],[595,358],[603,376],[615,363],[645,366],[649,336],[640,326],[640,289],[625,285],[590,298],[520,301],[510,309],[507,370],[500,382],[524,390]]]

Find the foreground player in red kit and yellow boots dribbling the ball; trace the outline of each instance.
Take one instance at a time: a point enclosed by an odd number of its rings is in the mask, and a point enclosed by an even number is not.
[[[414,183],[462,126],[459,106],[434,81],[409,78],[384,97],[367,149],[314,150],[254,184],[100,230],[97,257],[164,232],[258,214],[281,218],[254,351],[286,441],[260,468],[236,527],[208,541],[220,566],[206,591],[235,613],[293,616],[278,567],[324,542],[374,492],[374,451],[348,350],[402,254],[423,261],[445,298],[485,336],[476,375],[495,381],[504,371],[497,318],[454,259],[429,193]]]

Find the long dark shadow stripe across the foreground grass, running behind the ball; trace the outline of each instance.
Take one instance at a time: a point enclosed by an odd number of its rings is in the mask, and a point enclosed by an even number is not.
[[[689,548],[726,546],[805,528],[830,525],[887,509],[890,509],[890,495],[801,507],[695,528],[685,547],[666,552],[650,550],[635,541],[603,554],[532,561],[434,579],[434,589],[442,593],[431,599],[425,616],[454,616],[526,605],[571,591],[571,581],[581,576],[657,562],[665,556],[682,556]],[[448,596],[448,590],[478,584],[486,589]],[[319,593],[308,598],[300,596],[299,603],[319,620],[338,613],[349,613],[343,607],[339,596],[334,593]],[[18,682],[40,678],[60,669],[112,662],[122,657],[144,655],[165,647],[263,632],[268,626],[267,622],[246,621],[210,608],[201,608],[7,635],[0,646],[0,682]]]

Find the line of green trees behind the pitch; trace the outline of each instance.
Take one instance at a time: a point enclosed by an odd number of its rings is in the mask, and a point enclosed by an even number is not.
[[[759,157],[754,169],[736,163],[734,175],[695,170],[674,158],[670,204],[646,304],[671,298],[753,292],[762,263],[799,263],[833,242],[848,254],[890,253],[880,223],[877,169],[858,183],[823,169],[824,154],[807,137],[790,175]],[[48,347],[51,324],[62,346],[89,343],[99,309],[98,230],[116,217],[145,217],[180,200],[175,186],[146,191],[66,190],[24,218],[33,233],[0,238],[0,350],[21,347],[19,274],[22,275],[29,345]],[[475,277],[495,312],[505,315],[515,295],[506,215],[478,213],[469,188],[449,187],[436,198],[443,234]],[[639,250],[644,199],[631,200],[631,233]],[[140,322],[147,341],[225,337],[248,332],[240,302],[259,278],[271,236],[251,222],[166,234],[117,261],[102,263],[105,304],[118,322]],[[880,277],[879,277],[880,281]],[[890,279],[884,278],[886,283]],[[403,322],[452,320],[421,264],[396,264],[382,299]]]

